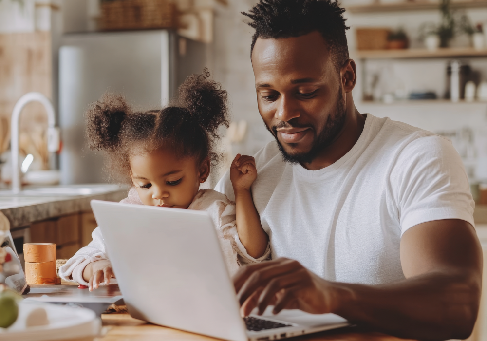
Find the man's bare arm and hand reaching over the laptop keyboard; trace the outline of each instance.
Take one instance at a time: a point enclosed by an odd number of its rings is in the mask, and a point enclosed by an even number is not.
[[[245,315],[275,304],[275,313],[331,312],[404,338],[467,338],[482,286],[482,249],[474,228],[457,219],[416,225],[404,233],[400,255],[406,280],[393,284],[329,282],[288,259],[244,267],[234,284]]]

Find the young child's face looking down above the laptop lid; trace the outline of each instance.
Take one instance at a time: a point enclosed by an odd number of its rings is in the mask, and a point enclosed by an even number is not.
[[[132,156],[130,167],[133,186],[144,205],[187,208],[208,177],[210,161],[177,158],[163,148]]]

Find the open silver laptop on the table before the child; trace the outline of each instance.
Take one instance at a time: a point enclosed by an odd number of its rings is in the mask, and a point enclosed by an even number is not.
[[[267,341],[335,329],[335,315],[267,309],[242,318],[206,211],[92,200],[132,317],[230,341]]]

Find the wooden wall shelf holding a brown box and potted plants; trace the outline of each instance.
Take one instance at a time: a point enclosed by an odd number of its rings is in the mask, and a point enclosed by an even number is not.
[[[473,48],[440,48],[435,51],[427,49],[404,50],[362,50],[356,51],[359,59],[412,59],[412,58],[455,58],[487,57],[487,49]]]

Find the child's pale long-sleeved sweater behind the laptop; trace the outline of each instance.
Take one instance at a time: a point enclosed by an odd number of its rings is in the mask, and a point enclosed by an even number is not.
[[[120,202],[143,205],[137,190],[133,187],[127,198]],[[262,262],[270,256],[269,246],[267,246],[264,255],[258,259],[248,255],[237,233],[235,203],[230,201],[225,194],[213,189],[202,189],[196,194],[188,209],[205,210],[209,213],[216,227],[226,265],[231,275],[238,270],[240,265]],[[86,265],[94,261],[108,259],[107,246],[103,240],[100,227],[94,229],[92,238],[93,241],[88,246],[80,248],[65,265],[59,268],[59,276],[62,279],[88,285],[83,279],[83,270]]]

